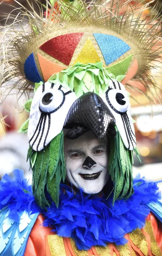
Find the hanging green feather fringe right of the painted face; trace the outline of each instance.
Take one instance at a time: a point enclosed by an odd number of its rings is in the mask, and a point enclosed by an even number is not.
[[[133,193],[132,152],[125,148],[117,131],[116,137],[111,137],[108,170],[114,182],[114,201],[128,199]]]

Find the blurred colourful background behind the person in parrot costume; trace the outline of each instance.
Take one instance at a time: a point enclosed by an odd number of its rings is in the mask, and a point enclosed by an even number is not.
[[[10,5],[6,6],[6,2]],[[18,2],[26,7],[28,6],[26,0],[19,0]],[[34,4],[34,1],[31,0],[31,2]],[[129,4],[131,3],[133,5],[134,1]],[[142,7],[142,1],[140,4]],[[18,4],[14,0],[6,0],[0,5],[1,26],[5,23],[3,15],[9,14],[17,6]],[[162,0],[155,0],[148,5],[144,15],[149,14],[149,7],[151,6],[155,7],[156,17],[157,14],[162,14]],[[37,8],[35,4],[34,8]],[[161,60],[159,61],[159,68],[160,66],[162,66]],[[151,72],[152,74],[159,72],[159,78],[156,79],[156,82],[161,87],[162,74],[159,70],[151,70]],[[142,84],[134,85],[143,90]],[[141,93],[131,93],[131,96],[137,148],[142,161],[140,163],[134,156],[134,176],[140,173],[148,180],[162,180],[162,104],[159,104],[158,101],[155,102],[156,104],[151,104],[148,98]],[[161,96],[159,95],[159,98]],[[0,177],[6,172],[12,175],[13,169],[19,168],[24,170],[26,177],[31,181],[29,163],[26,163],[28,151],[27,134],[17,133],[23,122],[28,119],[28,113],[23,110],[25,101],[26,96],[22,96],[17,102],[17,96],[13,91],[0,105]],[[162,187],[161,184],[160,186]]]

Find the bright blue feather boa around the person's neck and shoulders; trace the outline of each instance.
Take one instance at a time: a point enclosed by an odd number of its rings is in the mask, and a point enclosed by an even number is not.
[[[59,236],[74,238],[80,250],[88,250],[93,245],[104,246],[106,242],[125,244],[126,233],[145,225],[150,212],[146,204],[160,198],[157,183],[146,182],[139,176],[134,180],[134,195],[127,201],[115,201],[114,206],[112,198],[96,198],[85,194],[82,189],[74,194],[62,184],[58,209],[52,202],[45,212],[35,203],[23,172],[15,170],[14,175],[13,180],[5,175],[0,181],[0,209],[7,206],[9,218],[17,222],[21,211],[43,213],[44,226],[53,227]]]

